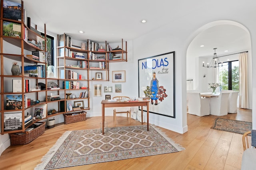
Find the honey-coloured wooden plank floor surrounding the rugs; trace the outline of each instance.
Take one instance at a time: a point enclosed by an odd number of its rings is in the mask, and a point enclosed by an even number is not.
[[[198,117],[188,114],[188,132],[179,134],[162,129],[186,150],[170,154],[146,156],[84,166],[63,168],[65,170],[238,170],[242,160],[242,135],[210,129],[218,116]],[[237,114],[222,118],[252,121],[252,111],[239,109]],[[114,127],[113,117],[106,117],[109,127]],[[0,170],[33,170],[42,156],[67,130],[100,128],[101,117],[89,117],[86,121],[61,124],[27,145],[8,147],[0,156]],[[141,123],[132,119],[132,125]],[[144,123],[145,124],[145,123]],[[129,125],[126,117],[117,117],[117,126]]]

